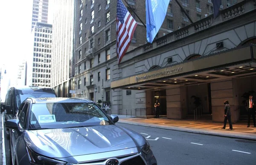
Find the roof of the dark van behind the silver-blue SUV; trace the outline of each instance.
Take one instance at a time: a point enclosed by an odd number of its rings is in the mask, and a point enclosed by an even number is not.
[[[16,90],[20,90],[19,91],[20,94],[29,94],[29,93],[37,93],[37,92],[55,94],[55,91],[52,88],[44,87],[44,86],[17,86],[12,88]]]

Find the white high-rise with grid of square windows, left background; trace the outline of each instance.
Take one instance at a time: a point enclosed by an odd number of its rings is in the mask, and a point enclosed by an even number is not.
[[[50,86],[52,25],[35,24],[33,55],[28,59],[27,85]]]

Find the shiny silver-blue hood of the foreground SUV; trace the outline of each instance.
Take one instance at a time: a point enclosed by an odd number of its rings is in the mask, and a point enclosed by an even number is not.
[[[119,125],[27,131],[25,141],[33,151],[65,158],[116,151],[145,145],[140,134]]]

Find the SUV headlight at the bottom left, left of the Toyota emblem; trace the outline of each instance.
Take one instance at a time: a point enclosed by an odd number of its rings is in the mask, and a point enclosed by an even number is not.
[[[66,165],[66,162],[61,162],[55,159],[50,159],[45,156],[39,155],[32,151],[28,146],[26,147],[29,153],[29,160],[32,165]]]

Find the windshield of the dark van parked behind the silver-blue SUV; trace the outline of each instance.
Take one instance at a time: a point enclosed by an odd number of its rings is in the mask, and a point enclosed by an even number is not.
[[[28,97],[39,98],[39,97],[56,97],[56,96],[55,94],[49,94],[49,93],[17,94],[16,95],[17,108],[19,108],[21,102],[23,102]]]

